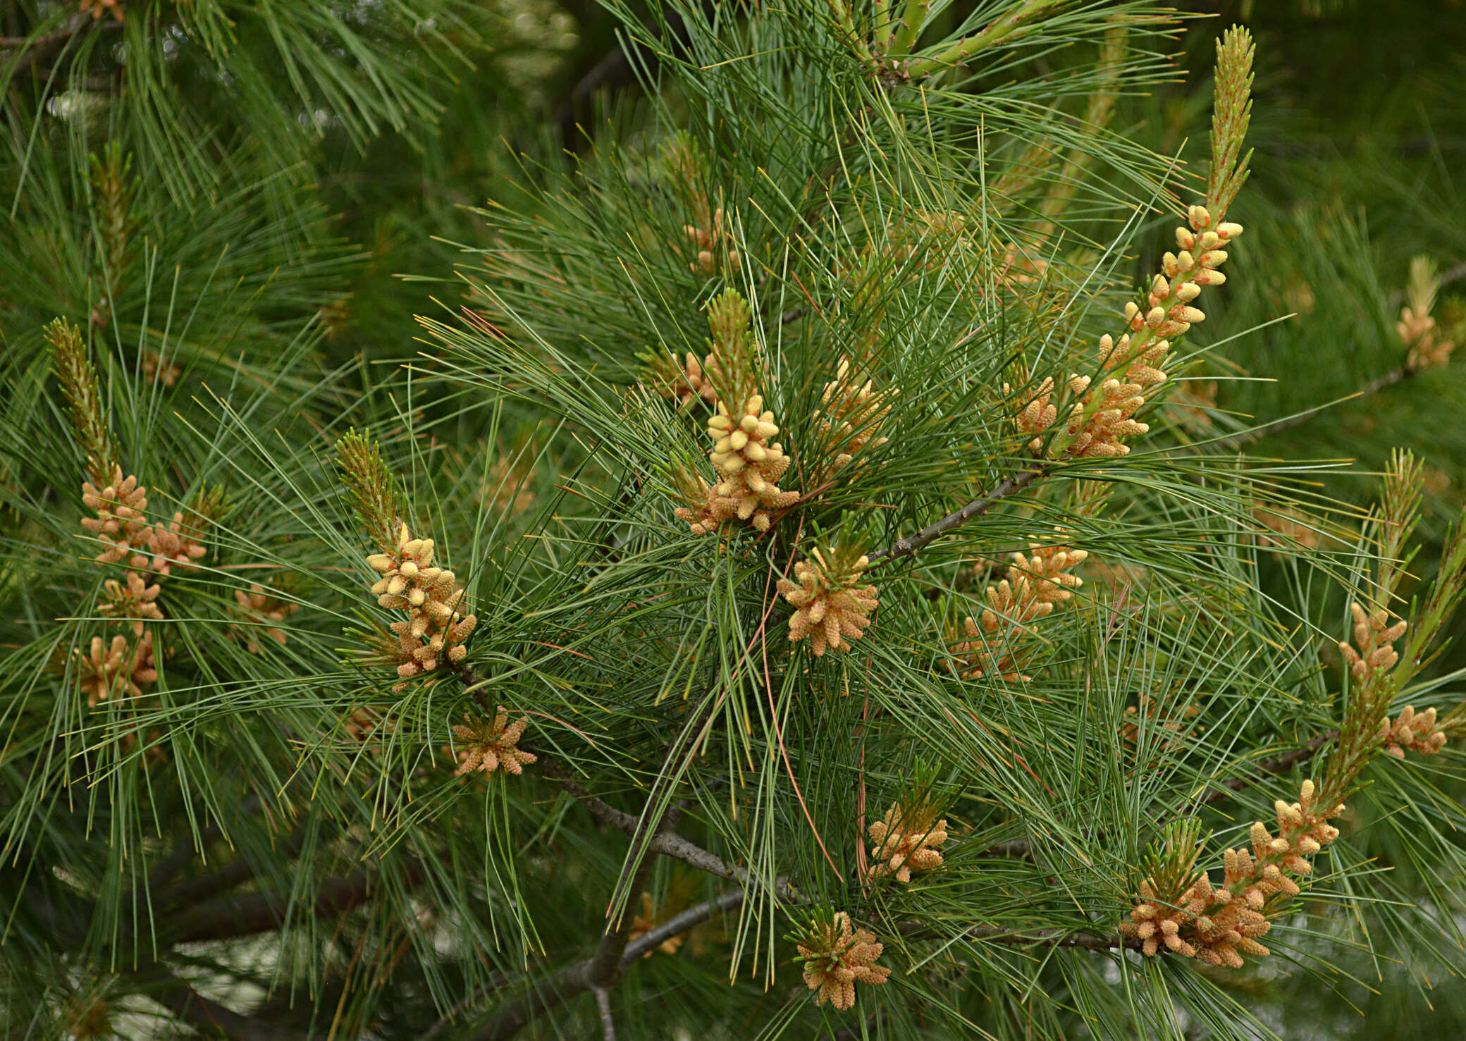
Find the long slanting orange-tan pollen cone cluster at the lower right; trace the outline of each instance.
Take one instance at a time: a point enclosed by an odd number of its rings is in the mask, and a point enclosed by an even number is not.
[[[1141,883],[1141,899],[1120,933],[1142,941],[1145,954],[1165,950],[1209,965],[1240,968],[1243,954],[1265,957],[1258,938],[1271,928],[1270,912],[1302,890],[1294,878],[1312,872],[1308,858],[1338,837],[1328,820],[1344,812],[1340,805],[1315,803],[1314,781],[1303,781],[1300,801],[1274,803],[1277,836],[1262,821],[1252,825],[1252,849],[1229,849],[1221,886],[1205,872],[1174,899],[1161,899],[1151,880]]]

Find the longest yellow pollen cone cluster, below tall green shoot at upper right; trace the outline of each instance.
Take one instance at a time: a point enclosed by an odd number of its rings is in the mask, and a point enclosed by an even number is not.
[[[1063,435],[1054,440],[1051,456],[1124,456],[1130,452],[1126,440],[1149,431],[1149,425],[1135,415],[1154,389],[1165,383],[1163,365],[1170,355],[1170,340],[1205,321],[1196,299],[1202,287],[1227,280],[1218,270],[1227,262],[1224,246],[1242,235],[1242,224],[1215,221],[1207,207],[1193,205],[1187,217],[1189,226],[1176,229],[1180,254],[1164,255],[1164,273],[1151,283],[1148,306],[1142,309],[1138,304],[1126,304],[1129,331],[1119,340],[1108,334],[1100,339],[1100,386],[1094,387],[1088,375],[1072,374],[1067,378],[1076,400],[1069,409]],[[1041,434],[1058,419],[1054,390],[1054,380],[1045,378],[1017,403],[1014,424],[1020,434],[1031,437],[1028,446],[1032,452],[1042,449]]]

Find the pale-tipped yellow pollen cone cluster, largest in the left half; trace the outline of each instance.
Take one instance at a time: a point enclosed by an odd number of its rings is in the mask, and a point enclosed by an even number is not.
[[[405,680],[431,673],[443,661],[462,661],[468,652],[463,641],[478,625],[466,613],[468,597],[457,576],[435,566],[432,556],[431,538],[413,538],[408,525],[400,525],[394,553],[366,557],[381,575],[371,588],[377,603],[408,616],[388,626],[397,638],[397,676]]]

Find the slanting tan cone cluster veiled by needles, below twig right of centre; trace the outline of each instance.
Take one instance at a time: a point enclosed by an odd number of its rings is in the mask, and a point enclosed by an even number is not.
[[[962,639],[950,635],[951,655],[962,679],[995,673],[1009,682],[1028,682],[1014,641],[1032,635],[1032,623],[1075,595],[1083,579],[1070,573],[1089,559],[1085,550],[1067,545],[1031,544],[1032,554],[1014,553],[1007,578],[988,585],[988,606],[978,619],[962,622]]]

